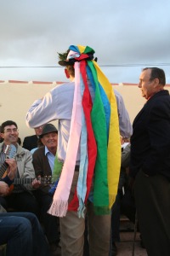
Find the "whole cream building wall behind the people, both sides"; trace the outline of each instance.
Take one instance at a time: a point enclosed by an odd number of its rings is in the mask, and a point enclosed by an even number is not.
[[[19,127],[19,136],[23,142],[24,137],[34,134],[34,130],[26,126],[26,112],[31,104],[38,98],[42,98],[48,90],[61,84],[61,82],[21,82],[0,81],[0,124],[8,119],[14,120]],[[144,105],[144,98],[137,84],[113,84],[124,99],[130,119],[134,117]],[[167,85],[170,90],[170,84]],[[52,122],[57,125],[57,122]]]

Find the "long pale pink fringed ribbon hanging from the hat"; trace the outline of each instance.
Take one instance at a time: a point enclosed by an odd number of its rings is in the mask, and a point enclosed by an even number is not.
[[[67,145],[66,158],[55,190],[54,200],[48,213],[64,217],[68,209],[71,183],[75,172],[77,151],[82,130],[82,95],[80,87],[80,63],[75,63],[75,91],[71,116],[71,130]]]

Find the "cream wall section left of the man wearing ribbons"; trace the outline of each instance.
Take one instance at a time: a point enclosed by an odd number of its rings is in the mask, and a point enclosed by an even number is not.
[[[44,96],[54,86],[56,84],[0,83],[0,124],[9,119],[14,120],[23,143],[24,137],[35,134],[33,129],[26,126],[27,110],[36,99]]]

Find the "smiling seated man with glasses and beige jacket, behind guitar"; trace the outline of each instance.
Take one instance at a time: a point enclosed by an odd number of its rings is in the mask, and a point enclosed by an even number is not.
[[[14,183],[16,178],[18,183],[17,185],[14,184],[14,189],[11,194],[3,196],[3,207],[13,208],[19,212],[33,212],[38,216],[39,211],[37,200],[31,193],[33,189],[31,182],[35,178],[31,153],[25,148],[20,147],[20,145],[17,143],[19,132],[18,126],[14,121],[8,120],[3,122],[1,129],[3,143],[0,143],[0,170],[3,167],[6,157],[6,146],[14,145],[16,148],[16,155],[14,158],[17,163]],[[3,177],[2,172],[0,173],[1,177]]]

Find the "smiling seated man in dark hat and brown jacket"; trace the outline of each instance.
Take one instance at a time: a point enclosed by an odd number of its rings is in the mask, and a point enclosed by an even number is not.
[[[52,124],[44,125],[40,139],[44,146],[37,148],[32,155],[36,176],[52,176],[58,143],[58,131],[55,126]],[[37,180],[35,180],[33,184],[37,187],[40,186],[40,182]],[[33,193],[41,207],[41,217],[48,242],[50,247],[55,251],[59,243],[59,218],[47,213],[53,201],[53,195],[48,193],[49,189],[49,186],[40,186],[39,189],[35,190]]]

